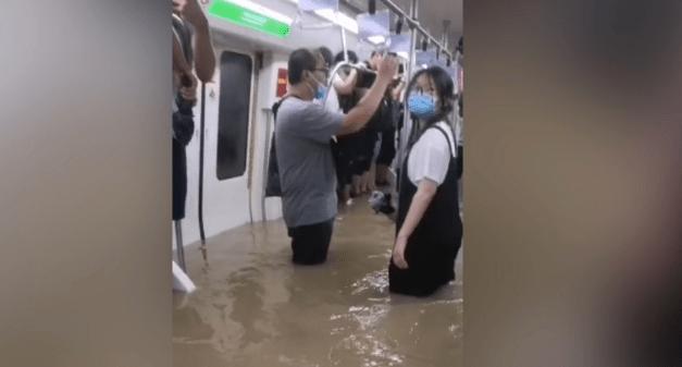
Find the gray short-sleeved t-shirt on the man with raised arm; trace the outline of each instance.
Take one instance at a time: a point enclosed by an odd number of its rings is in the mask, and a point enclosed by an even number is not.
[[[289,228],[336,216],[336,170],[330,139],[344,114],[295,97],[277,111],[275,146],[284,221]]]

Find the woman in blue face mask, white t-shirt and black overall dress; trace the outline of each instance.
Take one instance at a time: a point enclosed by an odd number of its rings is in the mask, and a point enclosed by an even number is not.
[[[432,66],[414,75],[407,93],[416,138],[400,170],[389,290],[427,296],[455,280],[455,258],[462,237],[457,139],[449,121],[454,82],[443,69]]]

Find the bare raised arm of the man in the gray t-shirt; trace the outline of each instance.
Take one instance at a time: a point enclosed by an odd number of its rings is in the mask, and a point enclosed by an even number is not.
[[[381,103],[386,93],[386,88],[390,84],[394,75],[398,70],[398,61],[394,57],[386,57],[380,61],[376,79],[364,97],[358,105],[348,111],[342,127],[337,135],[348,135],[356,133],[370,121],[379,103]]]

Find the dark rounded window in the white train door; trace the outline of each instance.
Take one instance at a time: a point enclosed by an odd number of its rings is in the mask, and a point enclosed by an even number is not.
[[[222,53],[216,163],[216,175],[221,181],[246,172],[252,71],[249,56],[230,51]]]

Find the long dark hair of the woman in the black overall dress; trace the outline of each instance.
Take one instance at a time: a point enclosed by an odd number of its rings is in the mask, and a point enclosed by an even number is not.
[[[423,134],[423,132],[434,123],[438,121],[446,121],[449,124],[450,114],[455,110],[455,82],[452,81],[452,77],[450,77],[450,75],[441,66],[431,66],[417,72],[414,76],[412,76],[410,84],[408,84],[406,96],[409,98],[410,94],[412,94],[414,87],[417,86],[417,82],[422,75],[425,75],[433,81],[433,86],[438,97],[438,105],[436,105],[437,111],[433,118],[427,121],[422,121],[422,124],[418,125],[418,129],[412,129],[412,133],[410,134],[410,146],[417,142],[421,134]]]

